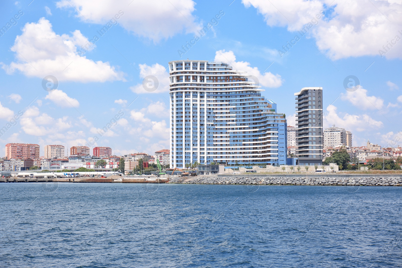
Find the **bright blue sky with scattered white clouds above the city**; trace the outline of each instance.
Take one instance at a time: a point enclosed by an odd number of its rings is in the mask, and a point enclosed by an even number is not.
[[[320,86],[324,127],[402,145],[401,14],[399,0],[2,1],[0,145],[168,149],[166,68],[187,58],[255,76],[288,125],[293,94]]]

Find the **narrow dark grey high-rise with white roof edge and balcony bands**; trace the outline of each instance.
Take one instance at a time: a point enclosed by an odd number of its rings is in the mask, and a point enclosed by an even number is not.
[[[322,88],[302,88],[296,100],[296,158],[299,165],[321,165]]]

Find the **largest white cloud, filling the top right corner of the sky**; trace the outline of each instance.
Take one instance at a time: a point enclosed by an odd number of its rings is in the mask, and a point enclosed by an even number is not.
[[[287,30],[303,29],[311,23],[309,36],[316,39],[318,48],[332,59],[380,55],[402,58],[402,44],[392,41],[400,34],[402,4],[388,0],[243,0],[246,7],[254,6],[263,14],[267,25],[286,27]],[[332,10],[333,8],[333,10]],[[313,20],[321,10],[325,18]],[[313,26],[316,24],[316,26]],[[298,34],[301,37],[300,34]],[[375,36],[375,38],[373,38]],[[286,41],[284,40],[284,44]],[[393,42],[391,47],[388,42]],[[383,48],[383,46],[387,46]],[[382,54],[384,55],[384,54]]]

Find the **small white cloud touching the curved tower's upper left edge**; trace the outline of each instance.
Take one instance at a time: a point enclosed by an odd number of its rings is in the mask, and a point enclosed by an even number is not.
[[[158,83],[158,88],[154,91],[145,90],[143,84],[137,84],[135,86],[131,86],[130,89],[137,94],[141,93],[163,93],[169,92],[169,74],[166,72],[166,67],[160,65],[159,63],[155,63],[152,66],[147,64],[139,64],[139,77],[144,79],[146,76],[154,76],[158,81],[147,80],[146,83],[149,83],[149,86],[155,86],[156,82]],[[150,90],[153,90],[152,88]]]

